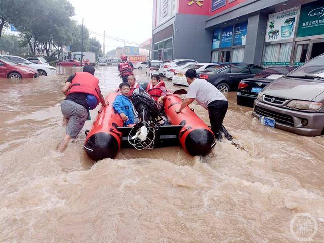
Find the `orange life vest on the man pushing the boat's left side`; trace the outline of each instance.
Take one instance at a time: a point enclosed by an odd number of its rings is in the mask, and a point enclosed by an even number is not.
[[[71,82],[71,88],[67,95],[71,93],[86,93],[96,97],[98,104],[100,102],[99,79],[88,72],[76,72]]]

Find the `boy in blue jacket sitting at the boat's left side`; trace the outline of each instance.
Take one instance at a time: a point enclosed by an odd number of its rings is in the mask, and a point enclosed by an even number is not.
[[[118,112],[124,122],[124,126],[129,124],[138,123],[138,113],[134,105],[130,101],[130,85],[128,83],[121,83],[119,85],[120,95],[115,98],[112,107]]]

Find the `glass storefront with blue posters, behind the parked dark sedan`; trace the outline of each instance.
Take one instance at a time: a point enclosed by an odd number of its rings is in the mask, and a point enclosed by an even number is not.
[[[243,62],[248,22],[215,29],[211,62]]]

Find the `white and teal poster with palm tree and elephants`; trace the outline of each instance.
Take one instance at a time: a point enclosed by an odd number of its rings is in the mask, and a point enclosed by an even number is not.
[[[291,8],[269,14],[265,42],[280,41],[294,37],[299,8]]]

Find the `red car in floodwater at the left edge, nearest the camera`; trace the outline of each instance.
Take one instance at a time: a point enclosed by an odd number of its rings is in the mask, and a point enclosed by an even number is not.
[[[13,63],[7,58],[0,57],[0,78],[20,79],[38,76],[39,73],[35,69]]]

